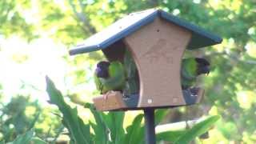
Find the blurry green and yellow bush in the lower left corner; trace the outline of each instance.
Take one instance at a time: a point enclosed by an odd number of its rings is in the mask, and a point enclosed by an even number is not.
[[[38,138],[54,137],[54,130],[50,129],[56,129],[60,122],[54,114],[49,114],[46,109],[42,110],[38,101],[31,102],[30,97],[17,96],[11,98],[10,102],[1,104],[0,141],[11,142],[32,128]]]

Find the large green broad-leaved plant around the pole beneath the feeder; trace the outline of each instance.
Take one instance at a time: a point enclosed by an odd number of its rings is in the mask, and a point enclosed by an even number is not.
[[[77,108],[71,108],[61,94],[61,92],[54,86],[54,83],[50,78],[46,77],[47,93],[50,96],[50,103],[58,106],[58,109],[62,112],[62,123],[69,130],[71,143],[102,143],[102,144],[115,144],[115,143],[145,143],[143,139],[144,126],[142,126],[142,114],[138,114],[130,126],[123,128],[124,112],[109,112],[107,114],[98,112],[95,107],[86,103],[85,108],[90,109],[90,112],[94,115],[94,122],[84,124],[81,118],[78,116]],[[156,124],[161,121],[166,115],[165,110],[156,111]],[[214,122],[218,120],[218,116],[207,118],[206,120],[199,122],[189,130],[180,131],[166,131],[157,135],[158,141],[168,141],[175,143],[188,143],[194,138],[206,133],[210,127],[214,125]],[[94,130],[94,133],[90,131],[90,127]],[[176,140],[168,138],[173,134],[176,135]],[[174,137],[172,137],[174,138]]]

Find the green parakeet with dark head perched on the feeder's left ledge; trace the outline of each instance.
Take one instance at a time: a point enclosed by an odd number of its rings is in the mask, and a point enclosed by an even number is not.
[[[126,82],[125,70],[121,62],[98,62],[94,72],[94,82],[101,94],[109,90],[123,90]]]

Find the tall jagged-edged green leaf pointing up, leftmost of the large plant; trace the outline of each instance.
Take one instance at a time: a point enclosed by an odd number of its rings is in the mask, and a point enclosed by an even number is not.
[[[66,104],[59,90],[54,86],[54,82],[46,77],[46,91],[50,96],[50,102],[58,106],[63,114],[62,123],[70,132],[70,138],[75,144],[91,144],[90,126],[85,125],[78,117],[77,108],[71,108]]]

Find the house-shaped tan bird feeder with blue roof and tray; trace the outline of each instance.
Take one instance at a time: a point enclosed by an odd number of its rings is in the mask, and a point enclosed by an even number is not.
[[[102,95],[94,98],[94,105],[98,110],[141,110],[200,102],[204,90],[198,88],[193,94],[182,90],[182,55],[186,49],[220,42],[222,38],[217,35],[163,10],[151,9],[121,18],[70,50],[70,54],[102,50],[110,62],[122,62],[125,50],[130,50],[138,68],[139,93],[124,98],[121,92],[114,91],[107,99]]]

